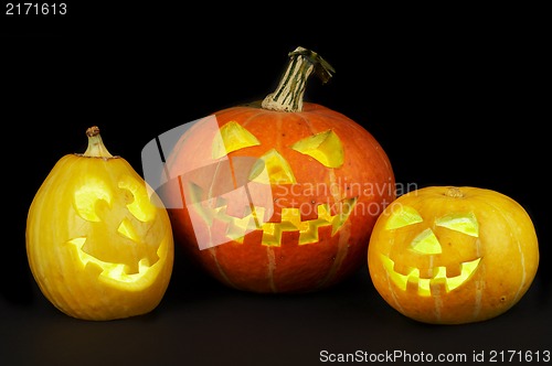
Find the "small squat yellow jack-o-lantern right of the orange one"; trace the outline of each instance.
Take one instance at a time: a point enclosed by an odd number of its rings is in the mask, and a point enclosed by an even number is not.
[[[479,187],[408,192],[378,218],[368,250],[373,284],[414,320],[460,324],[513,306],[537,273],[532,220],[512,198]]]

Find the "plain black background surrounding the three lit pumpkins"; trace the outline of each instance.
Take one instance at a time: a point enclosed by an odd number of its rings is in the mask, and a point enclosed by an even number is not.
[[[0,364],[311,365],[323,349],[468,357],[552,349],[542,9],[67,3],[64,17],[2,10],[0,21],[8,198]],[[26,212],[55,162],[84,152],[86,128],[99,126],[110,152],[141,173],[148,141],[263,98],[299,45],[336,68],[326,85],[309,79],[305,99],[363,125],[399,184],[491,189],[528,211],[541,261],[526,297],[486,322],[420,324],[383,302],[367,268],[319,293],[258,295],[192,270],[177,246],[170,287],[152,313],[87,322],[55,310],[29,271]]]

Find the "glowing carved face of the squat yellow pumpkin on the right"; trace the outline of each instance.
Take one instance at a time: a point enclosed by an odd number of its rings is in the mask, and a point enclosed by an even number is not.
[[[397,206],[391,213],[385,229],[395,230],[395,243],[406,244],[393,246],[389,256],[381,255],[390,279],[403,291],[417,286],[421,297],[443,291],[448,293],[463,286],[481,260],[477,254],[479,224],[471,212],[424,220],[414,207]],[[395,262],[422,265],[397,265],[396,271]]]

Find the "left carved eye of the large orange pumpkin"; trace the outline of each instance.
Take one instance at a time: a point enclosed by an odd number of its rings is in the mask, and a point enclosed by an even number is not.
[[[256,137],[236,121],[230,121],[220,129],[212,146],[213,159],[225,157],[232,151],[261,144]]]

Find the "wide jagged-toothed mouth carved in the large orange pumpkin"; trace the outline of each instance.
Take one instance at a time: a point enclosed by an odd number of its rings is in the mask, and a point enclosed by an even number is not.
[[[226,213],[227,205],[208,208],[201,206],[204,220],[212,227],[214,222],[221,222],[225,225],[225,235],[227,238],[242,243],[244,236],[253,230],[263,230],[262,244],[266,246],[280,246],[282,235],[285,232],[299,232],[299,245],[314,244],[319,240],[318,228],[331,226],[333,236],[349,218],[357,198],[348,198],[339,202],[341,208],[335,215],[331,215],[329,204],[317,206],[318,217],[314,219],[301,220],[299,208],[282,208],[282,219],[279,223],[263,223],[264,207],[251,207],[248,214],[244,217],[235,217]]]

